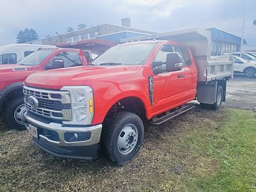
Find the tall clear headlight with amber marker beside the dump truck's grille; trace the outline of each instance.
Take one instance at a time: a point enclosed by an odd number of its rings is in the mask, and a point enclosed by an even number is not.
[[[63,124],[89,125],[93,119],[93,91],[90,86],[63,86],[70,92],[72,120]]]

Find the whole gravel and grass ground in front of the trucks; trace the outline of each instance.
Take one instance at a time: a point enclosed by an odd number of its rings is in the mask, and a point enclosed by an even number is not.
[[[0,191],[256,191],[256,113],[196,108],[147,125],[140,154],[115,167],[64,160],[36,148],[28,134],[0,136]]]

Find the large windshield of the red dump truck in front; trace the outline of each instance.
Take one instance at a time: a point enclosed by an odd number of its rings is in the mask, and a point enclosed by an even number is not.
[[[91,65],[144,65],[156,42],[124,44],[111,47]]]

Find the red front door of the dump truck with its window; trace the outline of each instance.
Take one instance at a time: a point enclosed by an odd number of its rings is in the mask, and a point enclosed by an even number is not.
[[[153,115],[175,108],[184,100],[184,68],[175,72],[164,70],[166,69],[166,55],[170,52],[173,52],[172,45],[162,45],[152,63],[154,74],[152,76],[154,83]]]

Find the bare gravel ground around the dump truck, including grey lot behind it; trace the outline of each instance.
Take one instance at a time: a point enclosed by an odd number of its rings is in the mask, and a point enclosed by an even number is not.
[[[254,109],[255,92],[256,78],[236,77],[228,81],[225,106]],[[218,163],[191,156],[179,142],[193,129],[218,129],[225,114],[225,108],[196,106],[172,122],[146,125],[140,154],[121,167],[101,155],[95,161],[51,156],[35,147],[26,131],[10,130],[0,116],[0,191],[154,191],[164,175],[170,175],[173,190],[188,191],[182,184],[191,172],[213,173]]]

